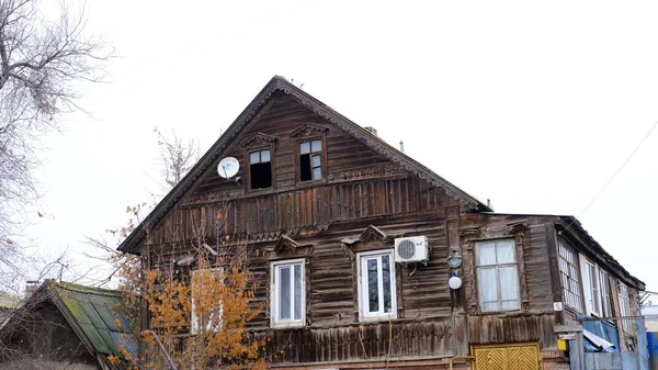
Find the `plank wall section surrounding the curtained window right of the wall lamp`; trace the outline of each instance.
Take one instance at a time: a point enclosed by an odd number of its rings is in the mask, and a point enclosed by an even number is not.
[[[553,332],[553,283],[548,240],[554,236],[546,225],[552,217],[529,215],[462,215],[462,243],[466,246],[463,290],[467,301],[468,335],[472,344],[540,341],[542,350],[555,350]],[[475,244],[479,240],[511,238],[517,246],[521,310],[481,313],[479,309]]]

